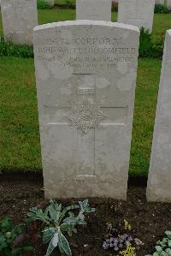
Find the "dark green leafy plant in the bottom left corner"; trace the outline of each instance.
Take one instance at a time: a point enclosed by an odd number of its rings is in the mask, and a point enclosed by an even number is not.
[[[14,225],[10,217],[3,217],[0,222],[0,255],[17,256],[30,252],[33,247],[26,245],[25,224]]]

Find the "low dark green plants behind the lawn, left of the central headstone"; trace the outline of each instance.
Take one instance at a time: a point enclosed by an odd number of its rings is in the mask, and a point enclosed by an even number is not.
[[[0,39],[0,56],[13,56],[29,58],[33,57],[32,46],[14,45],[11,41],[6,42],[3,38]]]

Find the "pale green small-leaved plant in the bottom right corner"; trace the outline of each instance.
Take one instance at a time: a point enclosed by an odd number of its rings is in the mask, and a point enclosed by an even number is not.
[[[146,256],[171,256],[171,231],[165,231],[166,237],[157,241],[156,252]]]

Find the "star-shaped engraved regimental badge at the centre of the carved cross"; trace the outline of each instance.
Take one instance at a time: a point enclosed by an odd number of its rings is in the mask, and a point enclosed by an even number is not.
[[[99,128],[100,122],[106,116],[100,110],[100,105],[97,102],[91,103],[85,99],[80,102],[73,102],[70,105],[67,117],[74,128],[81,130],[83,134],[87,134],[90,129]]]

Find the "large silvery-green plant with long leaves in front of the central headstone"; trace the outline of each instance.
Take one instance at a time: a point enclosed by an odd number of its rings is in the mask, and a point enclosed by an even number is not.
[[[72,210],[78,209],[78,214],[74,214]],[[43,241],[44,244],[49,243],[46,256],[49,256],[56,247],[59,247],[61,253],[72,255],[68,240],[64,233],[69,236],[76,234],[76,225],[85,225],[85,213],[95,211],[91,208],[88,199],[83,202],[79,201],[78,205],[62,207],[56,200],[51,199],[50,205],[43,211],[38,207],[33,207],[28,211],[27,216],[32,220],[39,220],[44,223]]]

